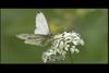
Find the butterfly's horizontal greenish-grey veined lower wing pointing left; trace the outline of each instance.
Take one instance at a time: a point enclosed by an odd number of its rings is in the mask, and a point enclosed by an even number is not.
[[[17,38],[24,39],[25,44],[45,47],[51,41],[51,36],[36,35],[36,34],[20,34]]]

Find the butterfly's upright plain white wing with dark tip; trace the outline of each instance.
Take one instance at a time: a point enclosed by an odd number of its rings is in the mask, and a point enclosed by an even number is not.
[[[36,15],[36,29],[35,34],[49,34],[49,27],[45,15],[41,12],[38,12]]]

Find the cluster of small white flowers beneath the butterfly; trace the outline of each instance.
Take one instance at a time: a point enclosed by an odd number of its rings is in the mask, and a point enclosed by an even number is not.
[[[43,53],[43,61],[46,63],[49,61],[64,60],[68,52],[80,52],[80,50],[76,48],[78,45],[83,46],[84,40],[77,33],[64,32],[62,34],[58,34],[53,37],[50,49]]]

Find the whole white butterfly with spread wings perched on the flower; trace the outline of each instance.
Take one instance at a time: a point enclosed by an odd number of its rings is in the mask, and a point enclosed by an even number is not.
[[[47,20],[41,12],[36,15],[36,29],[35,34],[20,34],[16,35],[20,39],[24,39],[25,44],[36,45],[36,46],[47,46],[52,38],[49,31]]]

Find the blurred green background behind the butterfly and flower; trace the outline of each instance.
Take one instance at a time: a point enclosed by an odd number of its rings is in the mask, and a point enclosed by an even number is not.
[[[85,46],[59,63],[108,63],[108,9],[1,9],[1,63],[43,63],[47,47],[24,44],[17,34],[34,33],[40,10],[52,34],[80,33]]]

